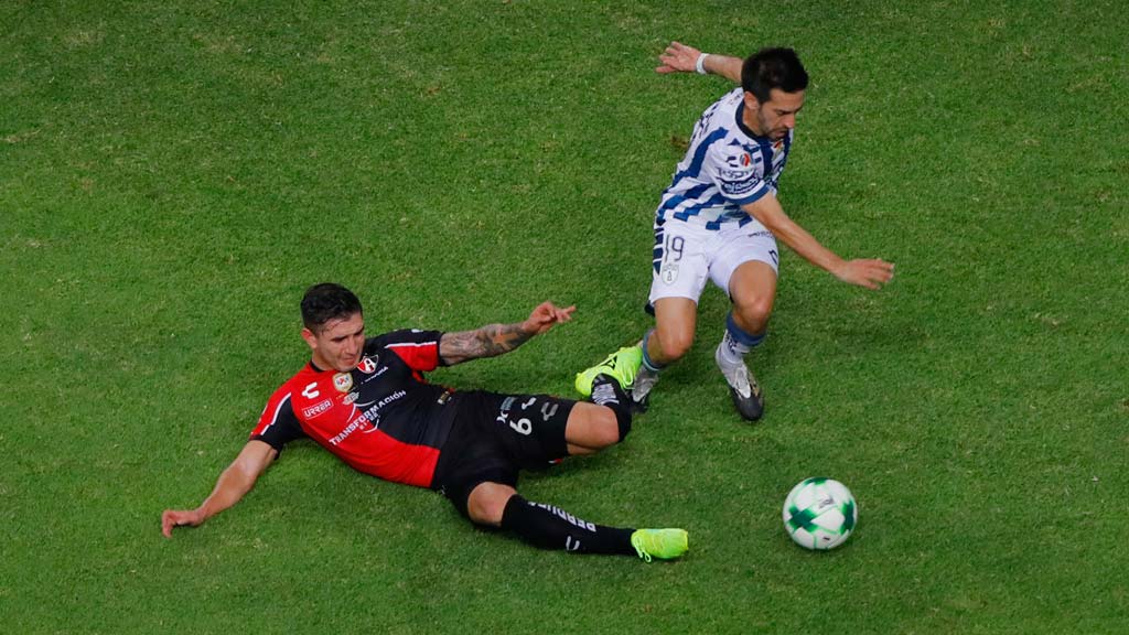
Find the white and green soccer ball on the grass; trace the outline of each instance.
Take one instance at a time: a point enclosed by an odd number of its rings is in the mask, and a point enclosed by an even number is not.
[[[830,478],[807,478],[784,501],[784,528],[805,549],[834,549],[858,523],[858,505],[847,486]]]

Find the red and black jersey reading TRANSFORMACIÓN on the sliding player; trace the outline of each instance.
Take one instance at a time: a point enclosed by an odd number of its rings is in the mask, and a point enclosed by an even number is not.
[[[455,419],[450,391],[423,379],[441,363],[440,336],[402,330],[370,338],[349,373],[307,363],[271,395],[251,438],[281,451],[309,437],[359,471],[430,487]]]

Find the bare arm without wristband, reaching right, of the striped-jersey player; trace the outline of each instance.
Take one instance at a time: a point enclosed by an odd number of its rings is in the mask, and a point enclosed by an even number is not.
[[[881,259],[843,260],[820,244],[815,236],[785,214],[780,202],[771,194],[761,197],[742,209],[760,220],[761,225],[805,260],[844,282],[878,289],[894,277],[893,263]]]

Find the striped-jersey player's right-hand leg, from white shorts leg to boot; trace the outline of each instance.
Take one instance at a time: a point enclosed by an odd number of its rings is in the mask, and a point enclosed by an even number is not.
[[[739,263],[730,269],[734,262]],[[764,400],[756,379],[745,365],[745,355],[764,340],[772,315],[776,242],[756,234],[737,240],[719,254],[711,277],[733,301],[714,358],[729,384],[737,411],[747,420],[756,420],[764,411]]]

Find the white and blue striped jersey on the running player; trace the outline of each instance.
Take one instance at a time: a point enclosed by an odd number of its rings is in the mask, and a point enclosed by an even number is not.
[[[741,206],[776,195],[793,131],[774,142],[758,137],[742,123],[744,110],[744,90],[735,88],[702,113],[686,156],[663,192],[656,224],[676,219],[718,230],[756,223]]]

